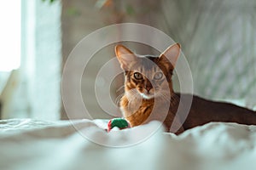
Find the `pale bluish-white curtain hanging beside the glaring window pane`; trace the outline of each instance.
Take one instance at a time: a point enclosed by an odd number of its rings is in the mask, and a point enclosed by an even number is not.
[[[61,109],[61,3],[22,0],[21,6],[19,84],[2,118],[56,120]]]

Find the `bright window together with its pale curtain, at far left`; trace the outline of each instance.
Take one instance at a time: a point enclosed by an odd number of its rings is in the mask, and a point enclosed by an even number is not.
[[[59,119],[61,2],[8,0],[1,4],[1,118]]]

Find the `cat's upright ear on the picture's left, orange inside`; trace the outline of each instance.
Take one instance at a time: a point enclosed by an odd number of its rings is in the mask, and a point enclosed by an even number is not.
[[[137,56],[133,54],[130,49],[120,44],[115,46],[115,54],[124,71],[130,70],[131,64],[137,60]]]

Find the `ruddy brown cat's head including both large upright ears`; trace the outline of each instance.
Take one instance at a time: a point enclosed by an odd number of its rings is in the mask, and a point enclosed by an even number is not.
[[[125,71],[126,95],[153,99],[173,92],[172,72],[180,54],[178,43],[160,56],[137,55],[123,45],[115,47],[115,54]]]

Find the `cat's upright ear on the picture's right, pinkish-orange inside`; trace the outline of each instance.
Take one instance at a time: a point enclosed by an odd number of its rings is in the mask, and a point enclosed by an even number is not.
[[[166,48],[166,51],[160,54],[160,61],[165,62],[168,65],[171,63],[172,69],[174,69],[180,54],[180,48],[181,46],[179,43],[175,43],[169,48]]]

